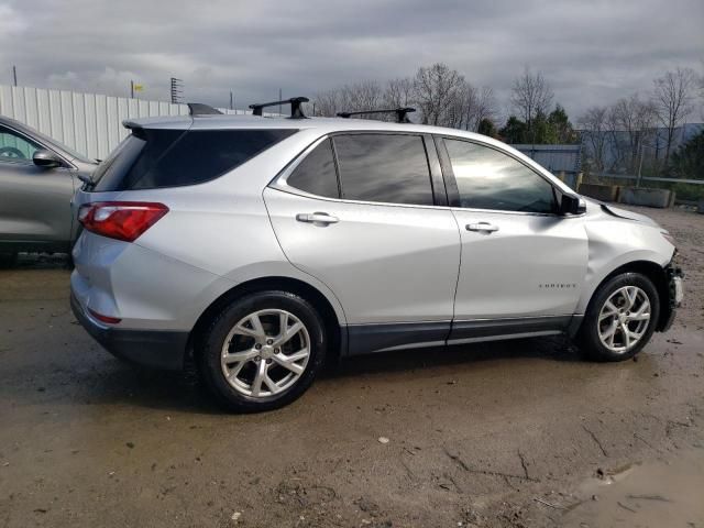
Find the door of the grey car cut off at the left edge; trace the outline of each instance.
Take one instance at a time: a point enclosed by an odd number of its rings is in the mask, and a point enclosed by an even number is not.
[[[68,248],[72,229],[73,174],[62,167],[36,166],[44,147],[0,125],[0,241],[14,251]]]

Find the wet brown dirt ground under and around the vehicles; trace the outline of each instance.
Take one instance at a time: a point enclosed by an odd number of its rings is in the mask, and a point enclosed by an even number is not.
[[[63,262],[25,257],[0,271],[0,526],[704,527],[704,216],[640,212],[688,280],[638,361],[561,338],[398,352],[250,416],[110,356]]]

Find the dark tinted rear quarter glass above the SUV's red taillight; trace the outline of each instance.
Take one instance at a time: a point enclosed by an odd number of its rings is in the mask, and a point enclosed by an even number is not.
[[[96,193],[215,179],[297,132],[135,129],[94,173]]]

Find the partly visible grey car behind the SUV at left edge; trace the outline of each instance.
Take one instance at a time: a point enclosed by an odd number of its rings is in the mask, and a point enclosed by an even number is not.
[[[68,253],[78,221],[70,200],[97,162],[0,116],[0,266],[18,252]]]

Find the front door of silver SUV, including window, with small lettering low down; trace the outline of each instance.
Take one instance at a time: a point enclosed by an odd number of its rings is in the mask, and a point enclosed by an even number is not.
[[[569,324],[587,266],[581,217],[557,213],[552,183],[488,144],[444,138],[462,238],[451,339],[551,333]]]

